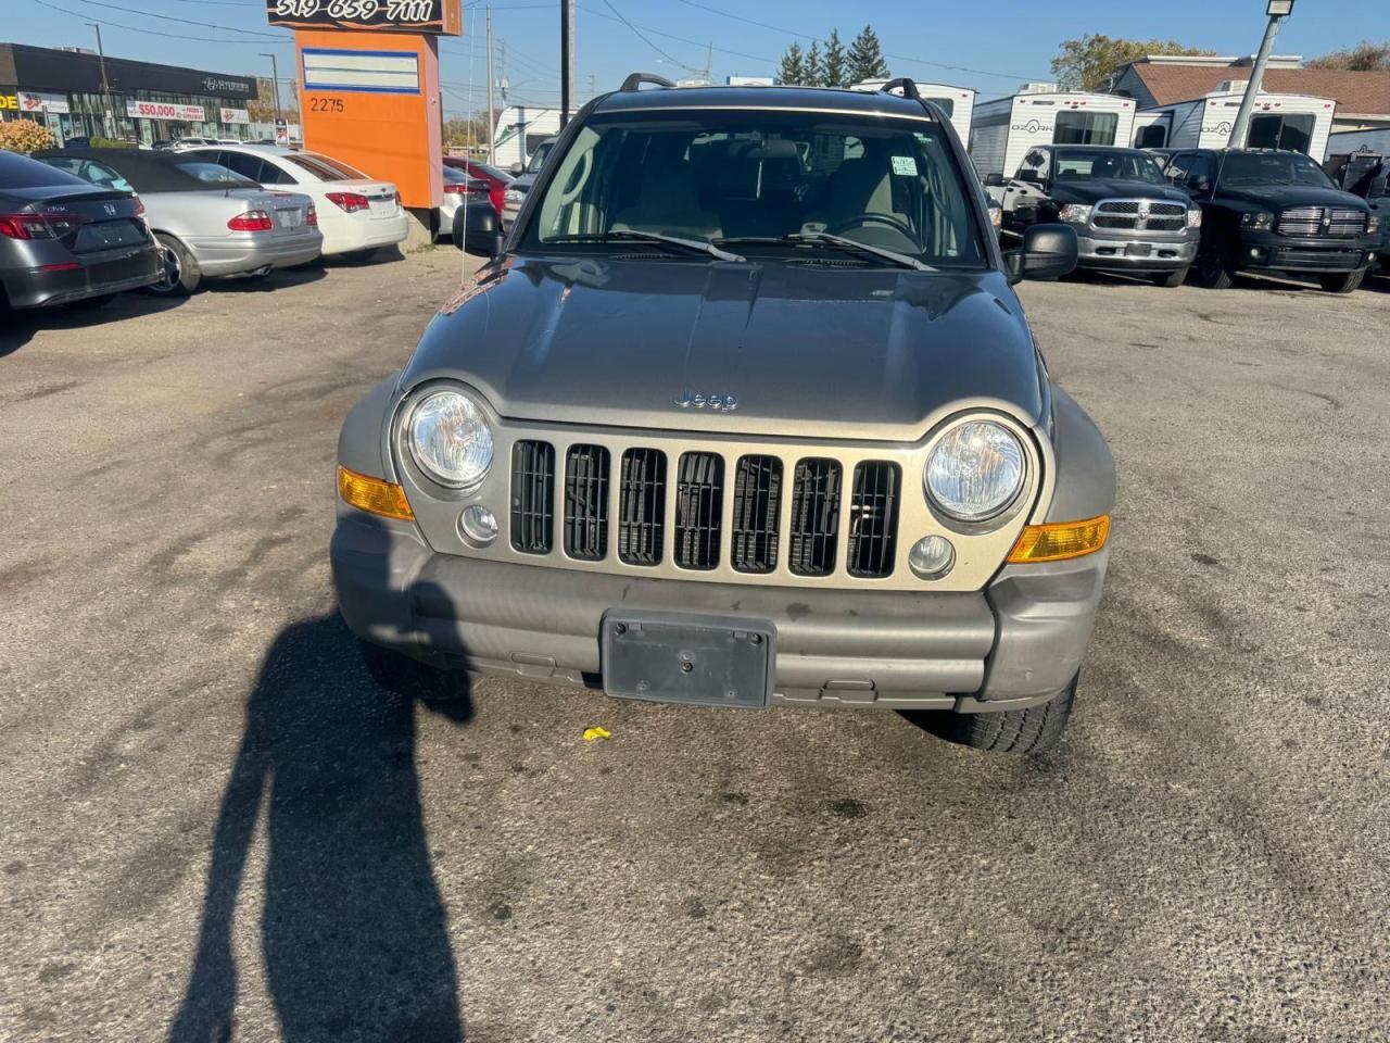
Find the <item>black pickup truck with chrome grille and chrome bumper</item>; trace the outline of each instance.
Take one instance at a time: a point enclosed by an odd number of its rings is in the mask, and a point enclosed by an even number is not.
[[[995,174],[986,185],[1004,204],[1006,234],[1073,225],[1079,266],[1180,286],[1197,256],[1201,210],[1163,181],[1147,152],[1044,145],[1029,150],[1009,181]]]

